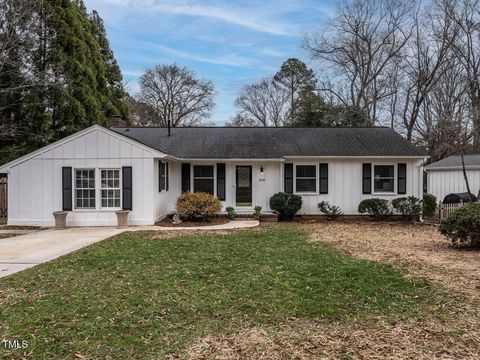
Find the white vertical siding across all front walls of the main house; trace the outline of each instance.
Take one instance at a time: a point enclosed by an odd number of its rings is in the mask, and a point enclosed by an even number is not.
[[[175,210],[175,203],[181,194],[181,162],[169,161],[169,190],[158,190],[158,164],[163,154],[151,150],[113,134],[100,127],[84,131],[66,141],[47,147],[13,163],[8,168],[9,218],[10,225],[54,225],[53,212],[62,209],[62,167],[94,168],[133,168],[133,210],[129,222],[132,225],[149,225]],[[226,199],[223,210],[233,206],[238,212],[251,212],[255,205],[269,211],[269,200],[277,192],[283,191],[282,161],[224,160],[224,161],[185,161],[193,167],[196,164],[226,164]],[[317,204],[326,200],[342,208],[345,214],[356,214],[361,200],[369,197],[392,199],[396,195],[362,195],[362,163],[407,164],[407,195],[422,196],[422,160],[412,159],[288,159],[292,163],[328,163],[328,194],[302,195],[302,214],[319,214]],[[237,207],[235,204],[236,166],[252,166],[252,206]],[[263,175],[260,169],[263,167]],[[478,178],[477,178],[478,179]],[[215,167],[215,191],[216,184]],[[98,175],[97,175],[98,182]],[[318,182],[318,176],[317,176]],[[472,187],[478,190],[480,181]],[[193,169],[191,186],[193,185]],[[395,184],[396,189],[396,184]],[[452,192],[453,190],[448,190]],[[460,190],[458,190],[460,191]],[[100,191],[97,186],[97,204]],[[402,195],[403,196],[403,195]],[[113,226],[116,225],[114,210],[73,210],[67,217],[68,226]]]

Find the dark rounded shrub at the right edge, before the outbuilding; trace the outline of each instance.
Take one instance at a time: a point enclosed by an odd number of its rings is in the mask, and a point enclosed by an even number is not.
[[[480,247],[480,204],[455,210],[440,222],[438,229],[454,246]]]

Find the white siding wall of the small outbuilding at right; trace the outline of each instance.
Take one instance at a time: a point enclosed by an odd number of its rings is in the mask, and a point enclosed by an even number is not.
[[[467,170],[470,191],[476,196],[480,190],[480,169]],[[467,185],[461,169],[428,170],[427,192],[435,195],[438,201],[451,193],[467,192]]]

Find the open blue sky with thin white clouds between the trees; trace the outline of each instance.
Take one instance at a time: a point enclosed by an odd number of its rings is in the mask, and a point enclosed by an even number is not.
[[[176,62],[210,79],[217,95],[210,121],[222,125],[235,114],[242,85],[273,75],[298,57],[302,37],[321,27],[333,0],[85,0],[105,21],[110,46],[127,89],[156,64]]]

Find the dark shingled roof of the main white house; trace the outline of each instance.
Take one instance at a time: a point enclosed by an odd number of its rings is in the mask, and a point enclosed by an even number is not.
[[[179,158],[274,159],[283,156],[424,156],[390,128],[113,127]]]

